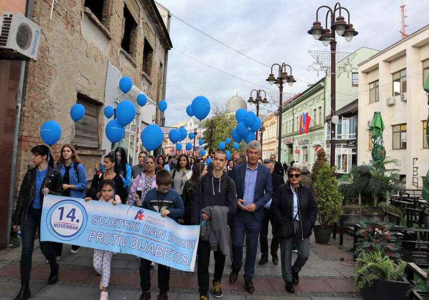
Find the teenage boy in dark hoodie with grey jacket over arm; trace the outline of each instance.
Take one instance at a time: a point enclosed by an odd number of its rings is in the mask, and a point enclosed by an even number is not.
[[[224,150],[215,151],[213,157],[213,171],[209,171],[198,180],[194,198],[194,220],[200,225],[204,220],[210,219],[206,213],[202,213],[209,206],[225,206],[228,208],[228,220],[230,220],[237,210],[237,191],[235,182],[228,177],[223,168],[227,163],[226,152]],[[201,221],[201,222],[200,222]],[[227,225],[225,225],[227,226]],[[200,300],[208,300],[209,290],[209,264],[210,264],[210,243],[207,240],[198,242],[198,286]],[[222,279],[225,267],[225,256],[220,248],[214,252],[215,274],[213,278],[213,296],[216,299],[222,298],[220,280]]]

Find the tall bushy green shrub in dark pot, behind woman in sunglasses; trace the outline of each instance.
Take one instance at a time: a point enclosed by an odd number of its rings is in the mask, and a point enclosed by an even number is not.
[[[341,216],[343,195],[338,191],[338,181],[334,176],[335,167],[324,163],[317,172],[314,184],[318,208],[318,226],[314,227],[314,237],[317,243],[327,244],[332,232],[332,226]]]

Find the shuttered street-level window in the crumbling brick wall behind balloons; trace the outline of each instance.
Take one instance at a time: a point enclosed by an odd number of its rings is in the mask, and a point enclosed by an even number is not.
[[[74,122],[73,144],[78,148],[98,149],[98,112],[101,104],[81,93],[77,94],[77,103],[85,107],[85,116]]]

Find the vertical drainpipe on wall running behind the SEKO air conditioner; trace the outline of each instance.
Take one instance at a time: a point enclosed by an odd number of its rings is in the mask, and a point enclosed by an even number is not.
[[[32,0],[26,0],[25,16],[28,19],[31,19],[31,5],[32,5]],[[15,192],[15,184],[16,184],[16,181],[15,181],[16,156],[18,153],[19,124],[21,120],[22,93],[24,88],[24,77],[25,77],[26,65],[27,65],[26,61],[21,61],[21,72],[19,74],[18,92],[16,95],[15,133],[13,136],[12,165],[10,168],[9,208],[7,211],[6,245],[10,243],[10,227],[12,224],[12,212],[13,212],[13,195]]]

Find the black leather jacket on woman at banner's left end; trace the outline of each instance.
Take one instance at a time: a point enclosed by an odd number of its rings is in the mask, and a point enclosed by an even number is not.
[[[12,224],[21,225],[23,216],[27,213],[31,206],[31,201],[34,198],[36,192],[36,168],[32,168],[27,171],[22,181],[21,188],[19,189],[18,201],[16,203],[15,213],[13,215]],[[46,186],[49,189],[51,195],[62,195],[62,179],[61,173],[48,167],[46,177],[43,180],[40,191],[40,204],[43,206],[43,187]]]

